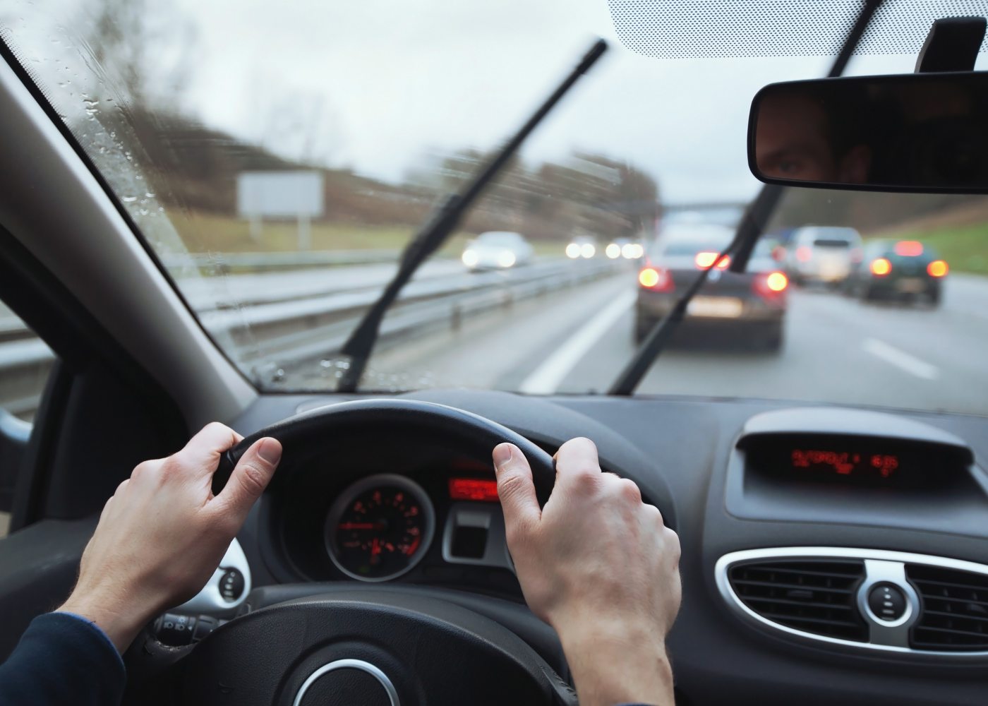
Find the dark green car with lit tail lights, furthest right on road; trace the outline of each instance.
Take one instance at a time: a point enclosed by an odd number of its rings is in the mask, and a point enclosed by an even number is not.
[[[871,240],[846,291],[864,302],[925,300],[938,307],[948,270],[947,262],[918,240]]]

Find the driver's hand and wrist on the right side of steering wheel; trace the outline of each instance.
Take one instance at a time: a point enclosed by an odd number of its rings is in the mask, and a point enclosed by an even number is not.
[[[532,611],[559,634],[580,703],[672,704],[665,636],[680,605],[680,545],[633,482],[601,472],[597,447],[555,455],[545,507],[513,444],[494,449],[508,549]]]

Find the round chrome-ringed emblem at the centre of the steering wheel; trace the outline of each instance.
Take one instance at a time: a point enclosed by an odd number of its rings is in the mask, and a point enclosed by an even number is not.
[[[323,664],[309,674],[292,702],[292,706],[322,704],[400,706],[398,692],[387,674],[363,660]]]

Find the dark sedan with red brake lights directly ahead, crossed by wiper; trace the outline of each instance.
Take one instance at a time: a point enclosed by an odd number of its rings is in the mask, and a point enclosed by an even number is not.
[[[641,341],[673,309],[700,270],[710,267],[730,242],[720,225],[668,228],[638,272],[634,339]],[[728,332],[769,350],[782,348],[788,279],[772,257],[772,244],[760,242],[743,273],[728,272],[721,260],[687,309],[682,328]]]

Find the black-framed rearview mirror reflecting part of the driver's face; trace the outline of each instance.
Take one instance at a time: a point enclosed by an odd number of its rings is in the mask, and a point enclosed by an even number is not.
[[[988,193],[988,72],[766,86],[752,102],[748,164],[788,186]]]

